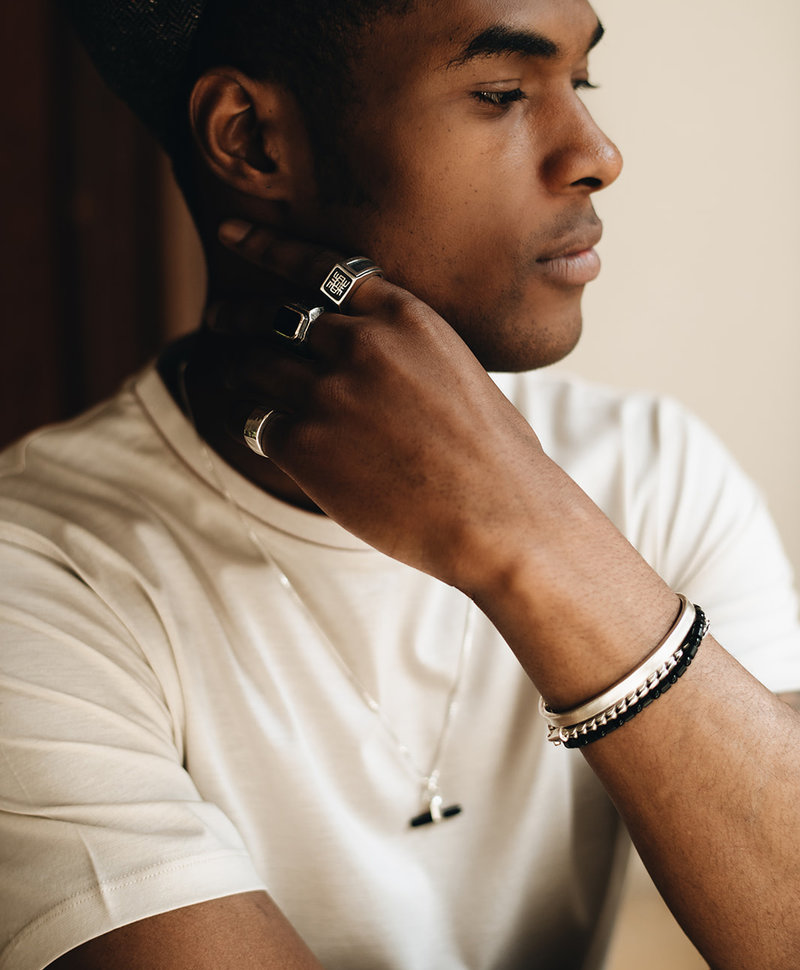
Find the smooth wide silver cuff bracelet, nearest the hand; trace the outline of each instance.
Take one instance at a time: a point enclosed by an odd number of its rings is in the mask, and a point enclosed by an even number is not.
[[[540,697],[539,713],[547,721],[548,727],[554,729],[558,734],[559,728],[580,728],[602,716],[613,719],[614,712],[620,706],[624,705],[624,708],[627,709],[631,702],[646,697],[658,685],[658,682],[668,675],[669,670],[680,659],[683,642],[696,618],[693,604],[681,593],[678,594],[678,597],[681,601],[680,612],[667,635],[655,650],[622,680],[617,681],[608,690],[598,694],[597,697],[593,697],[585,704],[573,707],[569,711],[553,711],[545,704],[544,698]],[[618,711],[618,713],[622,713],[622,711]],[[552,730],[550,733],[553,733]],[[556,738],[551,738],[551,740],[556,740]]]

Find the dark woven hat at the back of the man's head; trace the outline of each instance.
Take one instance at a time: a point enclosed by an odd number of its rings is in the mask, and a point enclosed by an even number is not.
[[[208,0],[62,0],[109,87],[169,147]]]

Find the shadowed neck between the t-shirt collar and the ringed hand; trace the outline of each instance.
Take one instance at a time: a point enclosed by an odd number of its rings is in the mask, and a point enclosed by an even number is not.
[[[158,371],[175,403],[208,447],[240,475],[289,505],[321,514],[292,478],[244,443],[242,429],[257,402],[236,401],[225,391],[215,352],[217,339],[224,338],[199,330],[161,354]]]

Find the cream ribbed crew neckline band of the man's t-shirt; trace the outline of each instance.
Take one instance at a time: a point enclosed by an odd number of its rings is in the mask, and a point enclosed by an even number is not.
[[[262,491],[205,446],[173,400],[155,364],[133,378],[132,391],[167,445],[223,501],[227,499],[221,485],[242,512],[278,532],[316,545],[378,555],[372,546],[327,516],[299,509]]]

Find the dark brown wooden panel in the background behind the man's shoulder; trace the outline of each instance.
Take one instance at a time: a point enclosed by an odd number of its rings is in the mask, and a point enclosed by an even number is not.
[[[56,6],[0,5],[0,444],[111,393],[163,332],[159,154]]]

